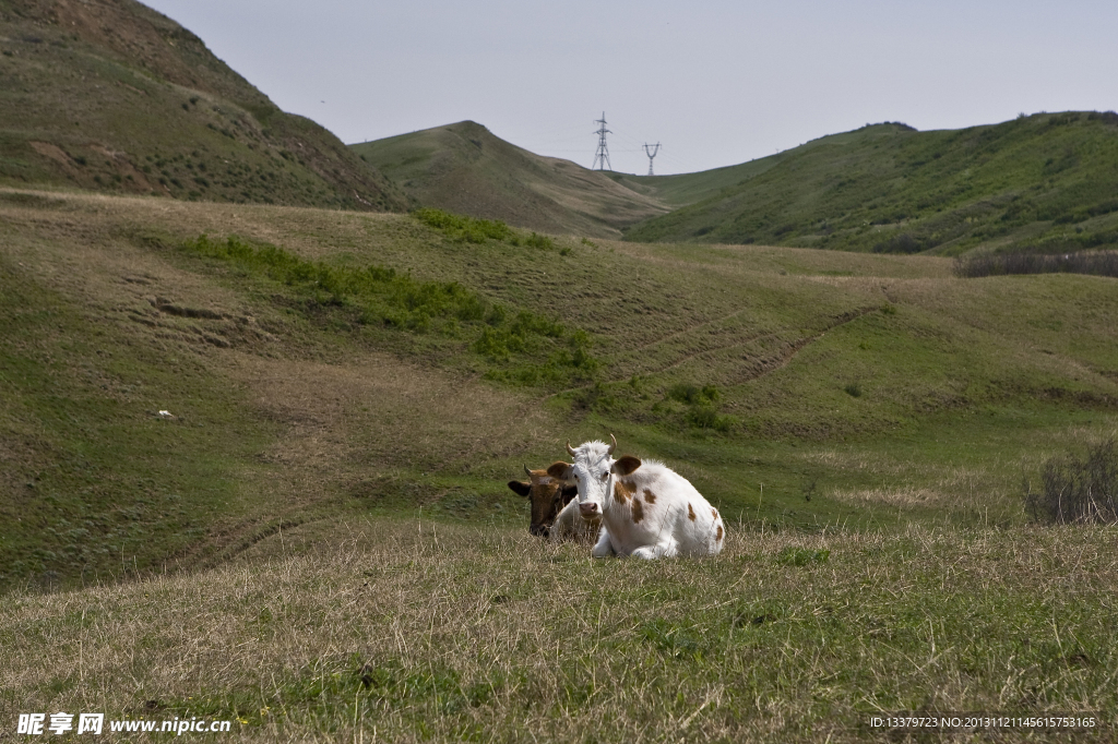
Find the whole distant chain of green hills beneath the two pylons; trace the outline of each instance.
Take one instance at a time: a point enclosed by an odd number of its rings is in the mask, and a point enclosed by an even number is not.
[[[885,122],[698,173],[588,171],[462,122],[351,145],[417,202],[551,232],[956,256],[1118,246],[1118,114]]]

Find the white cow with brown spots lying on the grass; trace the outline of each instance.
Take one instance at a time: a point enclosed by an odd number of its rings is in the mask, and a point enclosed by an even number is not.
[[[726,544],[718,509],[686,478],[662,462],[642,462],[632,455],[615,460],[616,447],[616,439],[613,445],[588,441],[577,448],[568,443],[575,461],[548,468],[551,477],[578,484],[584,518],[600,516],[601,533],[593,555],[718,555]]]

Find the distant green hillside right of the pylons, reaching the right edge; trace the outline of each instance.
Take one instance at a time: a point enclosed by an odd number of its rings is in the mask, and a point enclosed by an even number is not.
[[[664,177],[664,201],[700,200],[627,239],[944,256],[1118,242],[1114,113],[937,132],[878,124],[708,174]],[[635,181],[657,193],[659,178]]]

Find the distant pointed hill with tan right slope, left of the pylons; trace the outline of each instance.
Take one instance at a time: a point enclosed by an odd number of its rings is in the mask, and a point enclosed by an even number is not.
[[[350,149],[421,204],[542,232],[616,238],[666,211],[604,173],[536,155],[474,122]]]

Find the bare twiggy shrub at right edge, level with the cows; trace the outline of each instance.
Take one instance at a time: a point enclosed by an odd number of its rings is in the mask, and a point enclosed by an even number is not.
[[[1025,509],[1036,522],[1087,524],[1118,522],[1118,450],[1109,439],[1086,457],[1053,457],[1041,471],[1041,489],[1024,484]]]

